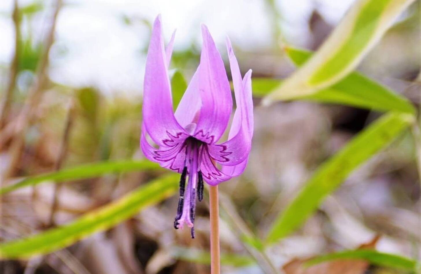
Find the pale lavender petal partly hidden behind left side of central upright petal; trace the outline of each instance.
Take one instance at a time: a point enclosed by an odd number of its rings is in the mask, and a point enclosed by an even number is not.
[[[200,100],[199,93],[199,69],[193,74],[192,80],[190,80],[189,86],[184,92],[183,97],[180,100],[179,106],[177,106],[174,116],[176,117],[179,124],[186,128],[192,122],[197,122],[197,116],[200,111],[202,101]],[[196,118],[195,118],[196,117]]]

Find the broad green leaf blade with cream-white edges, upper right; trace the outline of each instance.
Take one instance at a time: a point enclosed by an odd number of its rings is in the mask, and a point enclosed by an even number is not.
[[[358,0],[306,64],[264,98],[265,103],[308,96],[335,84],[360,63],[414,0]]]

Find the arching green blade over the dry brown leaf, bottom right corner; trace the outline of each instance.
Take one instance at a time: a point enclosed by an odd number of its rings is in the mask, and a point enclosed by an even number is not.
[[[402,269],[408,271],[416,270],[416,261],[405,258],[399,255],[381,253],[376,250],[349,250],[338,253],[331,253],[327,255],[318,256],[306,262],[306,266],[311,266],[325,261],[332,261],[338,259],[364,259],[370,263],[378,266],[391,267],[395,269]]]

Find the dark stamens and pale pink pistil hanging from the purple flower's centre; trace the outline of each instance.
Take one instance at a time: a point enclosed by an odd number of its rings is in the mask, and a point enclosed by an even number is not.
[[[194,137],[186,139],[186,160],[184,162],[183,172],[180,178],[180,198],[177,207],[177,214],[174,221],[174,228],[183,228],[184,223],[191,228],[192,238],[195,238],[195,211],[196,211],[196,191],[197,198],[203,200],[203,176],[200,171],[201,149],[205,144]],[[187,189],[185,189],[186,178],[189,176],[187,182]]]

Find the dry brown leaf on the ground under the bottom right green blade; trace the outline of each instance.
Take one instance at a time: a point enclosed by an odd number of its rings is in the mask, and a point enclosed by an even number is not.
[[[380,238],[376,235],[370,242],[357,249],[373,249]],[[306,267],[304,264],[312,258],[293,259],[282,269],[286,274],[364,274],[370,263],[365,260],[335,260]]]

